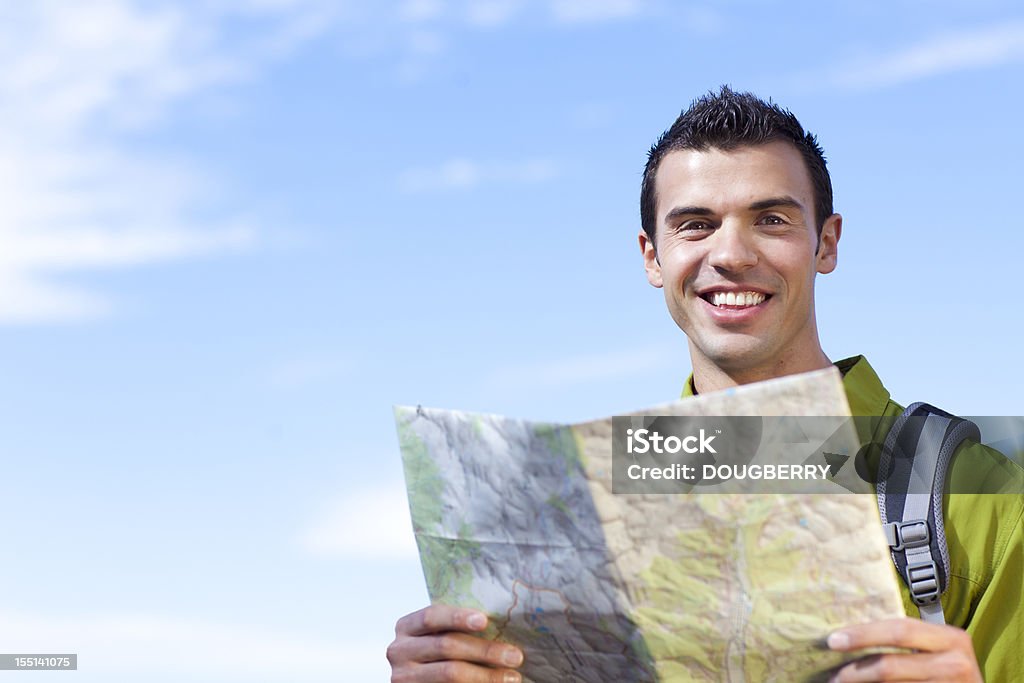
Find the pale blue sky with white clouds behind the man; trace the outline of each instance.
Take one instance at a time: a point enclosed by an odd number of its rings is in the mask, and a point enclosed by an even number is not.
[[[384,680],[426,602],[391,405],[677,395],[640,172],[722,83],[829,159],[826,352],[1024,413],[1012,2],[0,12],[0,649],[81,668],[40,678]]]

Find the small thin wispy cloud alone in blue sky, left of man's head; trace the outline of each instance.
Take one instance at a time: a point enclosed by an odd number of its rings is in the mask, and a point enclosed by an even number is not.
[[[558,166],[547,159],[515,163],[475,162],[453,159],[435,167],[403,171],[398,185],[409,193],[469,189],[486,183],[535,183],[558,176]]]

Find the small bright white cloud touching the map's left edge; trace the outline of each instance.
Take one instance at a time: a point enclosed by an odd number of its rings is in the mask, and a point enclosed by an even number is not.
[[[335,501],[303,531],[300,543],[316,555],[353,559],[416,558],[404,486],[395,483],[368,488]]]

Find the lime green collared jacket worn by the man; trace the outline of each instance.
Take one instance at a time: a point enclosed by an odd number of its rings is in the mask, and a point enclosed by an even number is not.
[[[861,441],[883,442],[903,407],[889,397],[863,356],[836,366],[843,373],[850,412],[879,418],[868,421],[873,433],[859,434]],[[683,396],[693,393],[691,377]],[[1016,479],[1012,490],[1024,492],[1024,470],[977,443],[965,444],[953,456],[947,488],[976,489],[972,482],[995,470]],[[971,635],[986,681],[1024,681],[1024,495],[947,493],[943,503],[950,573],[942,595],[946,623]],[[897,581],[904,611],[918,616],[906,585]]]

